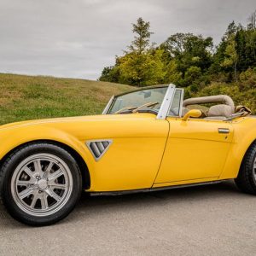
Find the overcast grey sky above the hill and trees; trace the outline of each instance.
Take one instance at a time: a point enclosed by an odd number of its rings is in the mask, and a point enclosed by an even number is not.
[[[0,73],[97,79],[140,16],[153,42],[193,32],[218,43],[230,21],[246,24],[254,9],[255,0],[0,0]]]

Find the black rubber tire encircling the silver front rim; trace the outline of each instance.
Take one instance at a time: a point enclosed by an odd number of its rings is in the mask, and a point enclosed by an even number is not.
[[[57,208],[53,214],[49,213],[48,216],[33,216],[23,211],[15,201],[14,192],[12,193],[11,185],[15,169],[23,160],[26,160],[28,157],[33,157],[33,155],[38,154],[49,154],[55,156],[57,159],[62,160],[66,164],[69,180],[72,180],[73,186],[69,186],[71,189],[67,189],[69,192],[67,196],[67,201],[62,203],[60,208]],[[41,163],[39,161],[39,163]],[[40,167],[43,170],[43,167]],[[51,172],[49,172],[51,173]],[[44,174],[43,174],[44,177]],[[54,179],[54,178],[53,178]],[[46,178],[48,181],[48,177]],[[55,180],[54,180],[55,182]],[[69,184],[69,183],[68,183]],[[55,144],[50,143],[30,143],[22,148],[18,148],[9,155],[9,157],[4,161],[0,169],[0,196],[2,197],[3,204],[7,208],[10,215],[17,219],[18,221],[34,225],[34,226],[43,226],[49,224],[55,224],[60,221],[62,218],[67,217],[67,215],[72,212],[82,191],[82,178],[79,166],[76,161],[73,159],[73,156],[69,154],[65,149],[60,148]],[[28,185],[29,187],[30,185]],[[26,187],[27,189],[27,187]],[[38,189],[38,188],[37,188]],[[41,188],[40,188],[41,189]],[[40,190],[41,191],[41,190]],[[42,193],[37,190],[37,193]],[[63,190],[64,191],[64,190]],[[66,191],[66,190],[65,190]],[[22,192],[22,191],[21,191]],[[44,191],[43,191],[44,193]],[[19,195],[19,194],[17,194]],[[45,194],[46,195],[46,194]],[[30,195],[29,195],[30,196]],[[48,198],[49,196],[46,195]],[[46,201],[48,200],[46,198]],[[59,197],[61,198],[61,197]],[[42,199],[40,199],[42,201]],[[39,202],[42,204],[42,202]],[[56,201],[56,203],[58,203]],[[47,202],[48,206],[48,202]],[[36,209],[36,208],[35,208]],[[42,205],[43,209],[43,205]]]

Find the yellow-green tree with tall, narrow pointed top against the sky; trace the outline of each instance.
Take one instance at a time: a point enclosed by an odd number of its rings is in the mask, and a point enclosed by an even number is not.
[[[159,84],[164,80],[165,71],[162,62],[162,49],[150,45],[150,23],[142,18],[132,24],[134,40],[123,56],[116,57],[114,67],[105,67],[100,80],[144,86]]]

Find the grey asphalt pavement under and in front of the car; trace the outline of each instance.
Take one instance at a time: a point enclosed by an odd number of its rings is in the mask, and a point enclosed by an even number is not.
[[[256,255],[256,196],[225,182],[134,195],[82,195],[32,228],[0,206],[0,255]]]

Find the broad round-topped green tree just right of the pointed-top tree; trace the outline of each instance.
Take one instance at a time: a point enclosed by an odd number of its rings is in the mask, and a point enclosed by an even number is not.
[[[203,38],[201,35],[177,33],[169,37],[160,45],[166,64],[165,81],[170,72],[176,84],[186,87],[193,83],[193,90],[199,90],[197,82],[201,86],[209,81],[207,72],[212,65],[212,47],[212,38]]]

